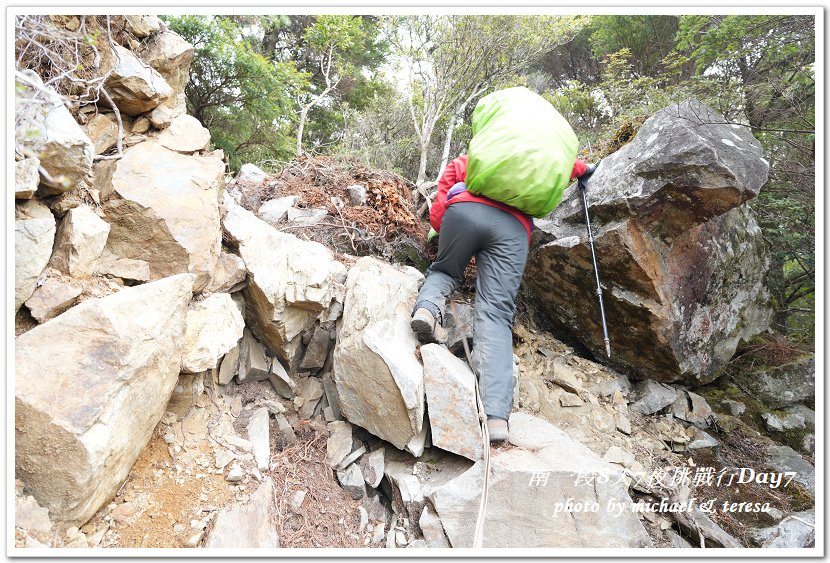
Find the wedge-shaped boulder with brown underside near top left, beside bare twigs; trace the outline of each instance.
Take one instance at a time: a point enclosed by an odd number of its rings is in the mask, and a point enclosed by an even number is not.
[[[104,85],[118,109],[138,115],[157,107],[173,95],[170,84],[132,51],[115,46],[115,66]]]

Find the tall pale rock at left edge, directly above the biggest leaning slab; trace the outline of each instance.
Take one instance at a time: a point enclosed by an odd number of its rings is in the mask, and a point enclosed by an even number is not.
[[[36,199],[18,203],[14,211],[14,310],[32,296],[55,243],[55,217]]]

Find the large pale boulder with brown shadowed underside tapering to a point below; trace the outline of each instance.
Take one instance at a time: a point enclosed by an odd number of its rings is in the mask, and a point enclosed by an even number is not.
[[[222,225],[248,270],[245,320],[273,354],[295,367],[301,333],[317,319],[339,316],[346,268],[322,244],[281,233],[230,197],[224,201]]]

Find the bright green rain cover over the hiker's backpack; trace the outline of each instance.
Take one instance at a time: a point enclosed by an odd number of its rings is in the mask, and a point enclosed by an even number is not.
[[[524,87],[493,92],[473,110],[467,190],[544,217],[570,183],[578,144],[538,94]]]

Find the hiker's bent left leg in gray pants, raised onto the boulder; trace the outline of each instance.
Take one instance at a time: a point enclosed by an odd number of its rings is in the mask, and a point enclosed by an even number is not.
[[[446,319],[447,299],[461,284],[464,268],[478,251],[481,226],[477,220],[478,208],[488,207],[480,203],[462,202],[450,205],[441,221],[438,237],[438,255],[427,269],[424,285],[418,292],[412,314],[427,309],[442,324]],[[413,330],[421,336],[421,330]],[[426,327],[423,327],[425,330]]]

